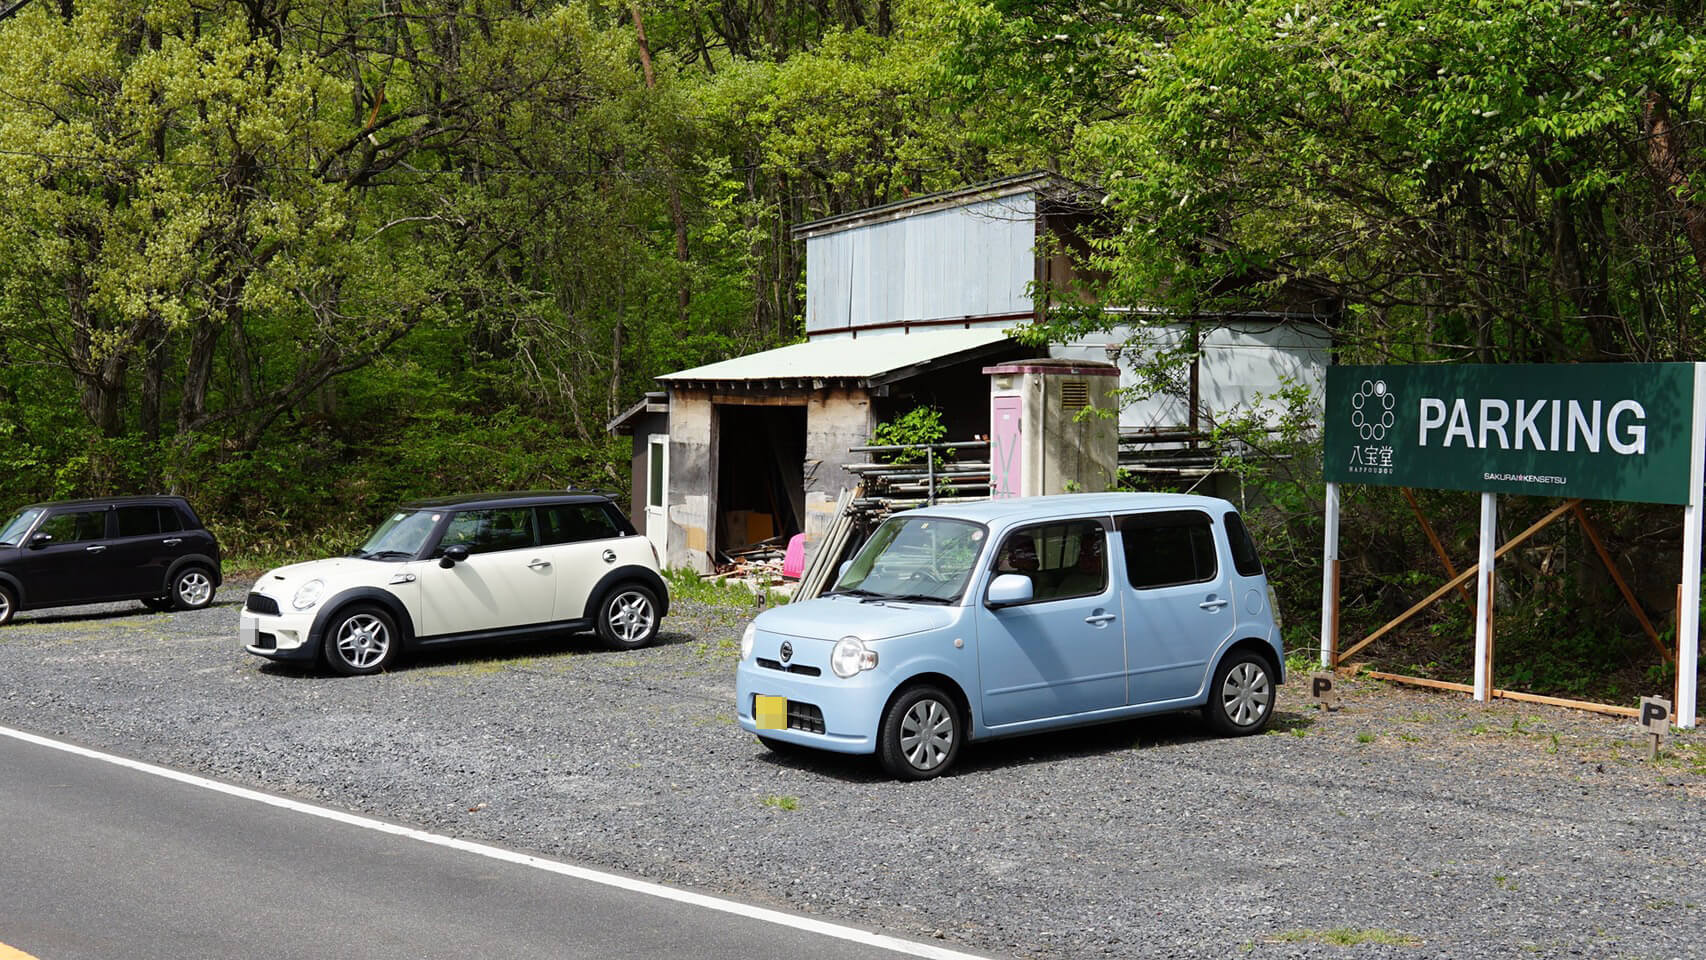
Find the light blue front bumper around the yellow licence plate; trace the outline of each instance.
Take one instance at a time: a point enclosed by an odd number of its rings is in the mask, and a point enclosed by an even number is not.
[[[797,641],[798,643],[798,641]],[[827,655],[831,645],[824,645]],[[775,653],[757,653],[775,662]],[[756,696],[788,699],[788,726],[759,730],[754,714]],[[735,718],[742,730],[838,754],[873,754],[877,725],[887,704],[889,689],[880,667],[858,677],[836,677],[827,663],[819,677],[807,677],[771,667],[759,667],[747,656],[735,667]]]

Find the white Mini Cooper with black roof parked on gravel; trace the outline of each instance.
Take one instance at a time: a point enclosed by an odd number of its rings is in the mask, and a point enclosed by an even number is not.
[[[346,558],[266,571],[241,633],[258,656],[377,674],[403,648],[546,631],[635,650],[667,612],[657,551],[609,498],[496,493],[399,506]]]

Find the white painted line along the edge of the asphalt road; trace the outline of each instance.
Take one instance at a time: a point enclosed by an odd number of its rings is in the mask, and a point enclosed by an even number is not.
[[[102,754],[101,750],[90,750],[89,747],[78,747],[75,743],[65,743],[60,740],[49,740],[46,737],[38,737],[34,733],[26,733],[22,730],[12,730],[10,726],[0,726],[0,735],[10,737],[14,740],[22,740],[24,743],[34,743],[38,747],[48,747],[49,750],[61,750],[65,754],[75,754],[78,757],[87,757],[90,760],[101,760],[106,764],[126,767],[131,771],[152,774],[157,778],[172,779],[177,783],[186,783],[189,786],[200,786],[203,789],[212,789],[213,793],[223,793],[227,796],[237,796],[242,800],[254,800],[258,803],[266,803],[270,807],[278,807],[281,810],[292,810],[295,813],[307,813],[309,817],[319,817],[322,820],[333,820],[336,824],[348,824],[351,827],[362,827],[365,830],[375,830],[380,834],[392,834],[397,837],[408,837],[411,841],[420,841],[423,844],[433,844],[440,847],[449,847],[454,851],[471,853],[474,856],[485,856],[490,859],[500,859],[503,863],[515,863],[520,866],[531,866],[534,870],[544,870],[546,873],[560,873],[563,876],[573,876],[575,880],[585,880],[589,883],[602,883],[604,887],[616,887],[618,890],[630,890],[633,893],[645,893],[647,897],[657,897],[660,900],[674,900],[677,904],[689,904],[694,907],[703,907],[706,911],[718,911],[723,914],[734,914],[737,917],[747,917],[754,921],[763,921],[776,926],[785,926],[792,929],[802,929],[807,933],[815,933],[821,936],[833,936],[836,940],[848,940],[851,943],[860,943],[865,946],[877,946],[880,950],[889,950],[894,953],[904,953],[908,957],[925,957],[926,960],[984,960],[976,953],[962,953],[959,950],[949,950],[945,946],[931,946],[928,943],[913,943],[909,940],[901,940],[897,936],[887,936],[880,933],[870,933],[851,926],[841,926],[827,921],[817,921],[812,917],[800,917],[795,914],[785,914],[781,911],[771,911],[766,907],[754,907],[751,904],[740,904],[737,900],[725,900],[722,897],[708,897],[705,893],[694,893],[691,890],[677,890],[674,887],[664,887],[662,883],[652,883],[648,880],[635,880],[631,876],[619,876],[616,873],[604,873],[602,870],[592,870],[587,866],[575,866],[570,863],[561,863],[556,859],[546,859],[543,856],[531,856],[525,853],[507,851],[502,847],[476,844],[473,841],[459,841],[456,837],[445,837],[442,834],[428,834],[426,830],[416,830],[413,827],[399,827],[397,824],[386,824],[384,820],[374,820],[372,817],[360,817],[357,813],[345,813],[341,810],[331,810],[326,807],[316,807],[312,803],[304,803],[300,800],[290,800],[285,796],[273,796],[271,793],[261,793],[259,789],[249,789],[246,786],[232,786],[229,783],[220,783],[217,779],[208,779],[196,774],[186,774],[183,771],[174,771],[171,767],[160,767],[155,764],[145,764],[142,760],[131,760],[128,757],[119,757],[114,754]],[[3,953],[0,953],[3,960]]]

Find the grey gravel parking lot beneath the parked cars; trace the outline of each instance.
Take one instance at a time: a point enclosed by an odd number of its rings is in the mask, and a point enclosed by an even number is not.
[[[19,616],[0,723],[993,955],[1706,957],[1701,735],[1648,764],[1628,720],[1293,682],[1264,737],[1157,718],[902,784],[735,726],[739,607],[333,679],[241,651],[246,590]]]

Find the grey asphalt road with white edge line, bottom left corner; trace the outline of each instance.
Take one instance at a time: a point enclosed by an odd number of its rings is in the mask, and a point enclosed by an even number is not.
[[[674,902],[10,735],[0,771],[0,957],[5,945],[41,960],[901,955],[875,934]]]

